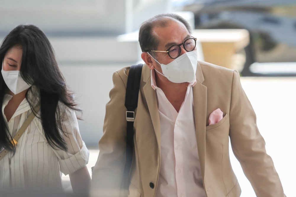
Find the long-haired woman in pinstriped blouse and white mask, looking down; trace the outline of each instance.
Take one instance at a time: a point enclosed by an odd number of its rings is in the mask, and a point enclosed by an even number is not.
[[[8,152],[0,158],[0,191],[59,191],[62,172],[73,191],[86,192],[89,151],[78,129],[80,110],[49,40],[36,26],[19,25],[4,38],[0,61],[0,151]],[[12,146],[31,112],[33,120]]]

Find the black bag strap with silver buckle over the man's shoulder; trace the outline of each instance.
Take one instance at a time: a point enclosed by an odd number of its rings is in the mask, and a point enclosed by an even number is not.
[[[139,88],[143,64],[132,65],[128,73],[128,82],[126,85],[126,165],[123,172],[123,189],[128,190],[129,173],[133,161],[133,122],[135,121],[135,109],[138,106]]]

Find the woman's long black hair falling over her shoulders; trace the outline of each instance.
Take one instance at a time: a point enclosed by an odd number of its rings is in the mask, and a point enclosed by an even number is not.
[[[38,27],[34,25],[19,25],[8,33],[1,44],[1,62],[7,51],[14,46],[22,47],[20,67],[22,78],[28,84],[37,87],[35,89],[37,89],[38,93],[34,94],[33,86],[31,86],[25,98],[33,111],[33,102],[32,99],[28,98],[28,93],[30,92],[33,93],[33,96],[40,97],[38,99],[41,104],[41,115],[37,117],[41,119],[46,140],[54,149],[67,151],[66,143],[60,132],[60,130],[62,131],[61,125],[63,121],[63,117],[60,115],[63,110],[62,106],[69,107],[75,111],[81,110],[75,107],[77,104],[73,99],[73,92],[67,90],[65,79],[59,70],[54,50],[49,40]],[[0,75],[0,106],[3,105],[4,95],[7,90],[7,85],[2,75]],[[1,148],[6,148],[14,152],[15,148],[10,143],[12,136],[7,130],[3,114],[0,113],[0,150]]]

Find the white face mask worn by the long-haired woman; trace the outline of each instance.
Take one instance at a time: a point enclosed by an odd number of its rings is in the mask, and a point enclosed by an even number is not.
[[[31,87],[31,85],[29,85],[22,79],[22,76],[20,75],[19,70],[10,70],[10,71],[3,70],[3,62],[2,62],[1,73],[7,87],[14,94],[18,94]]]

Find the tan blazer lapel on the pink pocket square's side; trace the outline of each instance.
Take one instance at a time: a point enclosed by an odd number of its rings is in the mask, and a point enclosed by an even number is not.
[[[194,118],[198,156],[202,171],[202,179],[205,177],[205,127],[207,121],[207,87],[202,85],[204,77],[200,65],[197,63],[197,83],[193,86]]]

